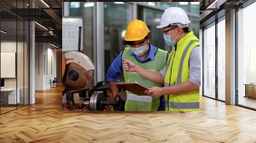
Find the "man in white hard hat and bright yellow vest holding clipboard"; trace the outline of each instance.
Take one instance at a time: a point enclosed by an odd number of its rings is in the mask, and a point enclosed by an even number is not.
[[[128,60],[123,60],[127,72],[137,72],[145,79],[164,84],[164,87],[151,87],[145,93],[157,98],[164,94],[166,111],[199,110],[200,56],[199,40],[188,30],[190,21],[181,8],[164,10],[161,28],[164,41],[175,48],[170,52],[168,63],[161,72],[145,70]]]

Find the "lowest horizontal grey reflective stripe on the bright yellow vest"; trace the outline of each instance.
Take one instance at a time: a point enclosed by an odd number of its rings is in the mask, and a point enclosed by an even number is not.
[[[173,108],[173,109],[198,109],[200,103],[199,102],[165,102],[165,107]]]

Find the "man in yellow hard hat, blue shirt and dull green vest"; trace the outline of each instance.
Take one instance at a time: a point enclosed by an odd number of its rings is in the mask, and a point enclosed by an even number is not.
[[[132,20],[125,31],[125,47],[111,63],[106,75],[106,81],[112,91],[113,96],[117,94],[117,88],[114,84],[119,75],[123,75],[124,82],[138,82],[142,86],[161,87],[163,84],[157,84],[143,78],[136,72],[126,72],[122,67],[122,59],[128,59],[141,67],[159,72],[166,65],[168,52],[158,49],[150,43],[150,33],[147,25],[141,20]],[[125,111],[156,111],[159,109],[160,98],[152,96],[138,96],[126,91]]]

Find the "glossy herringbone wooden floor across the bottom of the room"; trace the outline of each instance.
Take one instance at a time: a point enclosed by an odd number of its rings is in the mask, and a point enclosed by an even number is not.
[[[0,142],[256,142],[256,112],[202,97],[200,112],[62,112],[61,89],[0,116]]]

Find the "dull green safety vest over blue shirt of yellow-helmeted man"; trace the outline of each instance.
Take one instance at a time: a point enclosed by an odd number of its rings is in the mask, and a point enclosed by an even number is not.
[[[154,56],[154,59],[145,62],[139,62],[134,56],[131,56],[131,49],[125,47],[122,52],[122,59],[128,59],[134,64],[141,66],[147,70],[153,70],[159,72],[164,68],[168,59],[168,51],[157,49],[157,52]],[[143,78],[136,72],[126,72],[123,68],[124,82],[138,82],[144,87],[153,87],[158,86],[162,87],[161,84],[152,82]],[[126,91],[126,102],[125,102],[125,111],[156,111],[159,108],[160,98],[152,98],[152,96],[138,96],[134,93]]]

